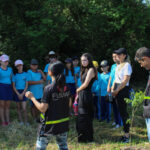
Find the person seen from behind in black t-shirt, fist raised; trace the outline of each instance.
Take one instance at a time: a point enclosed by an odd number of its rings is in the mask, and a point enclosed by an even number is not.
[[[60,150],[68,150],[67,131],[69,130],[69,97],[65,77],[63,74],[64,66],[56,62],[49,67],[49,75],[52,84],[44,89],[44,95],[39,103],[31,92],[26,96],[32,100],[35,106],[44,115],[36,143],[37,150],[45,150],[48,145],[48,136],[54,135]]]

